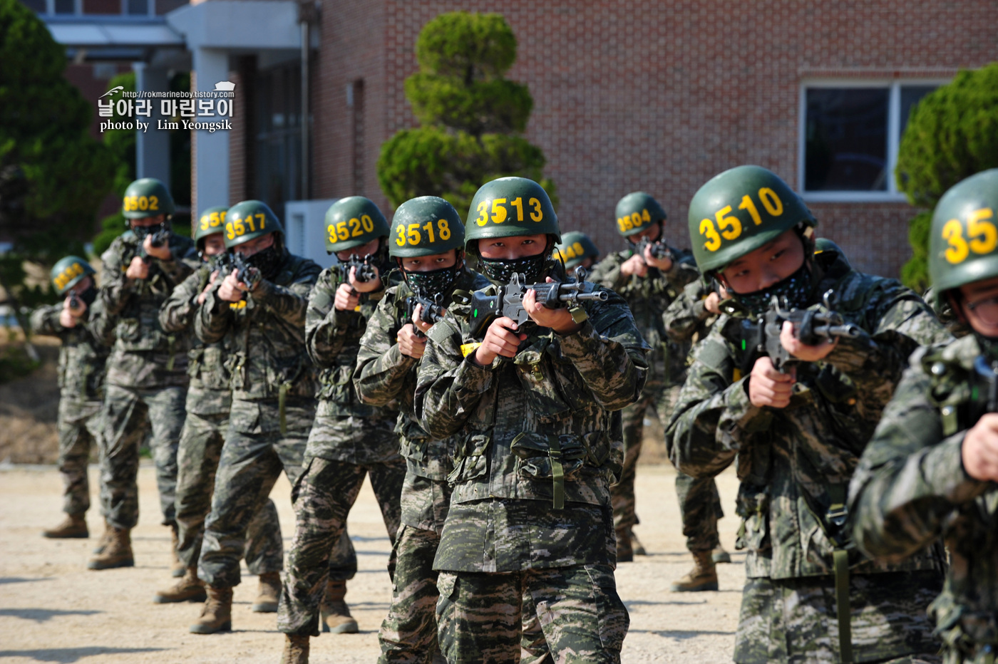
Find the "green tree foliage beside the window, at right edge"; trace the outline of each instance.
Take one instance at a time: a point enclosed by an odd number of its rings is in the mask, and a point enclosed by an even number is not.
[[[901,278],[928,286],[932,208],[946,189],[975,172],[998,166],[998,63],[960,72],[911,111],[897,152],[897,185],[908,201],[928,211],[910,222],[912,257]]]

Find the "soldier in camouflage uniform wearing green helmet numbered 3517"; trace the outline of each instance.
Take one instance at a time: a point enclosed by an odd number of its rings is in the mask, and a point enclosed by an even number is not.
[[[228,349],[233,389],[198,563],[208,601],[191,625],[197,634],[232,628],[233,587],[240,583],[250,521],[265,508],[281,470],[296,485],[317,387],[302,351],[305,308],[319,266],[288,252],[280,221],[259,200],[229,208],[225,239],[247,265],[220,275],[195,317],[203,343]]]

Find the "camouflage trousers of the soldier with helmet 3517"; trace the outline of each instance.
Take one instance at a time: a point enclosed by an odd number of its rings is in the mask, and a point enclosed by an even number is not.
[[[250,521],[270,496],[281,471],[291,486],[298,481],[308,432],[307,413],[300,410],[301,417],[295,418],[292,409],[287,409],[288,427],[283,435],[235,431],[230,422],[198,562],[198,574],[206,582],[226,587],[240,584],[240,558],[246,553]]]

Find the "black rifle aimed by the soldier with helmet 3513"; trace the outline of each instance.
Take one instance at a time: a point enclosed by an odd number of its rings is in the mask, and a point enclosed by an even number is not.
[[[523,296],[528,290],[537,293],[537,301],[549,309],[568,308],[572,319],[577,323],[586,320],[586,312],[582,302],[606,301],[610,295],[605,290],[594,291],[592,282],[586,279],[586,268],[580,265],[575,268],[574,282],[552,281],[551,283],[524,284],[524,275],[514,274],[509,285],[499,286],[494,295],[485,289],[469,294],[454,294],[454,301],[470,305],[468,320],[472,326],[472,336],[485,334],[485,329],[496,318],[508,316],[522,325],[530,320],[527,310],[523,308]],[[462,301],[464,300],[464,301]]]

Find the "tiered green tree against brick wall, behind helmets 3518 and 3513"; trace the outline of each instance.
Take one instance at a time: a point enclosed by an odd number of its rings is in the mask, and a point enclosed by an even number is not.
[[[516,36],[499,14],[440,14],[416,40],[419,72],[405,96],[419,120],[381,146],[381,189],[398,206],[437,195],[466,213],[478,187],[502,175],[544,178],[540,148],[521,134],[534,101],[527,87],[503,78],[516,61]]]

